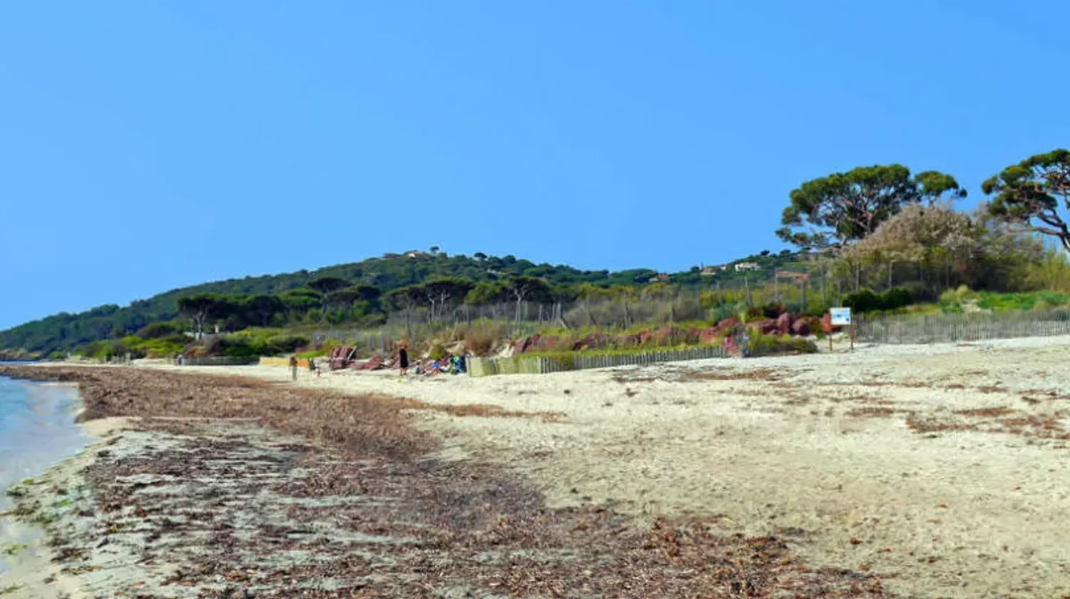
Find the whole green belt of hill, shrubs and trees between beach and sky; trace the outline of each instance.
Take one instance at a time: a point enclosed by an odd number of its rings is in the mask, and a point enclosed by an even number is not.
[[[463,337],[452,342],[485,353],[503,336],[548,324],[575,337],[783,311],[814,317],[832,305],[857,312],[1067,305],[1070,230],[1060,211],[1070,210],[1070,152],[1026,158],[982,191],[989,202],[961,212],[953,201],[966,190],[949,174],[858,167],[789,195],[777,234],[797,250],[764,250],[734,266],[611,273],[435,247],[56,314],[0,332],[0,359],[76,350],[105,358],[314,356],[331,347],[317,332],[335,327],[389,331],[395,340],[448,328]]]

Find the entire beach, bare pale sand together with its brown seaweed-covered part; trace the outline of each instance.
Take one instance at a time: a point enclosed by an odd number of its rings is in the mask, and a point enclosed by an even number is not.
[[[41,584],[87,597],[1063,597],[1067,347],[295,384],[19,367],[126,418],[19,506],[80,489],[43,518]]]

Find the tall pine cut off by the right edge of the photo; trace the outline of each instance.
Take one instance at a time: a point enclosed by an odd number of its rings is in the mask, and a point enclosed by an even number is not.
[[[1070,150],[1054,150],[1007,167],[981,184],[995,196],[992,216],[1009,225],[1055,237],[1070,250],[1070,228],[1059,209],[1070,209]],[[1061,204],[1061,205],[1060,205]]]

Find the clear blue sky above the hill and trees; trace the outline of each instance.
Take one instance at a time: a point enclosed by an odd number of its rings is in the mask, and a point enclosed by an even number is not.
[[[663,271],[802,181],[1070,144],[1070,4],[0,3],[0,328],[441,246]]]

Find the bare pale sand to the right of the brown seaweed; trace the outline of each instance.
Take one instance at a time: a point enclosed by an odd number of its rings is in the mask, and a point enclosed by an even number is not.
[[[851,355],[403,382],[396,373],[302,371],[299,384],[562,412],[561,423],[421,415],[447,452],[524,472],[552,505],[615,500],[636,513],[721,514],[728,531],[789,536],[814,565],[898,573],[887,587],[916,596],[1059,597],[1070,594],[1066,442],[1023,434],[1040,430],[1026,420],[1018,433],[917,432],[906,420],[913,413],[1013,431],[998,419],[1031,417],[1070,428],[1068,349],[1066,337],[860,347]],[[181,370],[289,379],[285,367]],[[882,408],[901,412],[849,414]],[[1008,413],[954,414],[987,408]]]

